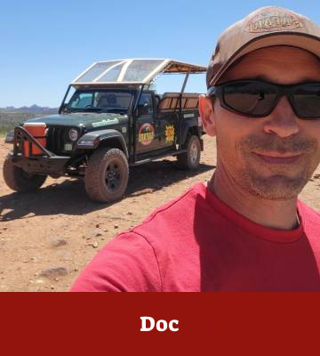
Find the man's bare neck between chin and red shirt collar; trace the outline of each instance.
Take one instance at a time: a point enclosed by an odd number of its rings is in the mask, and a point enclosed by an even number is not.
[[[255,197],[242,190],[217,168],[208,188],[228,206],[254,223],[273,229],[292,230],[299,225],[297,198],[278,201]]]

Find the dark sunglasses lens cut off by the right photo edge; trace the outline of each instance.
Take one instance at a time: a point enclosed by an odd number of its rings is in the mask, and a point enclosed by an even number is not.
[[[320,84],[299,85],[293,98],[299,117],[320,118]]]

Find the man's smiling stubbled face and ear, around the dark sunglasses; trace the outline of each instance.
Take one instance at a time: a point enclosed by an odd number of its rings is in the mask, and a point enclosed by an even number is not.
[[[320,61],[289,46],[263,48],[244,56],[221,82],[259,79],[275,84],[320,82]],[[223,171],[252,195],[296,198],[320,162],[320,119],[295,116],[284,96],[267,117],[245,117],[223,109],[219,100],[200,103],[204,129],[217,138],[217,174]]]

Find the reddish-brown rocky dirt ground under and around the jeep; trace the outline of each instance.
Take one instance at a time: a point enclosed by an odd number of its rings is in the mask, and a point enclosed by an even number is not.
[[[68,291],[93,255],[156,206],[212,176],[215,142],[204,136],[196,172],[177,170],[175,158],[133,167],[125,197],[106,205],[87,198],[84,183],[48,178],[36,193],[10,190],[2,176],[11,146],[0,138],[0,291]],[[300,194],[320,210],[320,166]]]

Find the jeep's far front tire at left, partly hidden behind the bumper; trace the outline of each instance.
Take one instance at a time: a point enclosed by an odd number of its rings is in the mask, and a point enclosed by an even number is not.
[[[38,190],[47,177],[40,174],[28,174],[22,168],[13,166],[10,156],[7,156],[4,160],[3,172],[6,185],[21,193]]]

